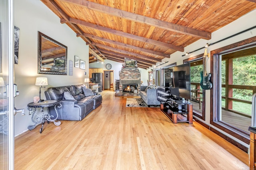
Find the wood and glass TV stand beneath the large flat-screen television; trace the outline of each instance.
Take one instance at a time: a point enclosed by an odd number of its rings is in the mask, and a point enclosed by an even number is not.
[[[160,104],[160,109],[172,123],[187,122],[193,124],[193,104],[187,100],[175,100]]]

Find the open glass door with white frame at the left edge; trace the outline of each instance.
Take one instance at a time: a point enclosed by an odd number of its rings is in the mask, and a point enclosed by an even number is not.
[[[0,169],[14,169],[13,1],[0,0]]]

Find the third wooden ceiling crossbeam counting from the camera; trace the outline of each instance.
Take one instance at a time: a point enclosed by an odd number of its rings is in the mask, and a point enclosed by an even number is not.
[[[120,42],[118,42],[118,41],[106,39],[106,38],[103,38],[103,37],[98,37],[98,36],[96,36],[96,35],[91,35],[91,34],[84,33],[84,36],[85,36],[85,37],[88,37],[88,38],[92,38],[92,39],[97,39],[97,40],[99,40],[99,41],[104,41],[104,42],[106,42],[106,43],[111,43],[111,44],[114,44],[114,45],[119,45],[119,46],[122,46],[122,47],[127,47],[127,48],[134,49],[134,50],[138,50],[138,51],[143,51],[143,52],[145,52],[145,53],[150,53],[150,54],[159,55],[159,56],[162,56],[162,57],[165,57],[165,58],[170,58],[170,55],[169,55],[169,54],[160,53],[160,52],[157,52],[157,51],[153,51],[153,50],[149,50],[149,49],[144,49],[144,48],[136,47],[136,46],[134,46],[134,45],[129,45],[129,44],[125,44],[125,43],[120,43]]]

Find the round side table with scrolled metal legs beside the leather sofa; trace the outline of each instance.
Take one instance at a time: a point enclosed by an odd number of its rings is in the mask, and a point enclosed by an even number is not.
[[[52,117],[54,117],[53,115],[50,115],[49,112],[49,107],[54,106],[54,110],[56,112],[56,118],[52,119]],[[40,128],[40,133],[42,133],[43,128],[44,128],[44,123],[47,121],[47,123],[50,123],[51,121],[54,123],[54,125],[59,126],[61,124],[60,121],[56,121],[58,119],[58,111],[56,109],[56,107],[61,107],[61,102],[58,100],[45,100],[43,102],[39,102],[39,103],[29,103],[28,104],[28,111],[29,114],[32,115],[31,119],[32,121],[35,123],[34,125],[29,125],[28,129],[31,131],[32,129],[34,129],[36,127],[36,125],[38,123],[42,124],[42,127]],[[44,113],[44,107],[47,107],[47,113]],[[41,116],[38,115],[36,113],[36,108],[41,108],[40,112],[41,112]]]

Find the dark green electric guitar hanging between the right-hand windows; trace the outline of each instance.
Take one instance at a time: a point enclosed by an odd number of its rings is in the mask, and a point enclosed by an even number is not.
[[[203,56],[203,71],[200,72],[200,75],[201,75],[200,86],[204,90],[209,90],[212,88],[212,82],[210,80],[212,74],[206,73],[206,56],[209,57],[209,55],[207,55],[207,49],[205,49],[204,56]]]

